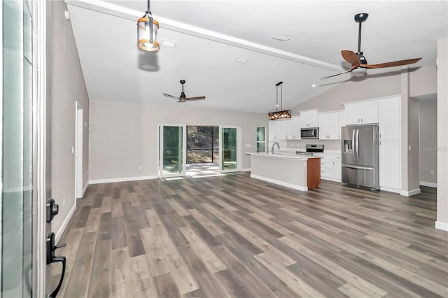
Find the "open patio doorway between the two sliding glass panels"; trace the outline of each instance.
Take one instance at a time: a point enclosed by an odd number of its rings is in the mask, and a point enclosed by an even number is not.
[[[220,175],[219,127],[187,125],[187,176]]]

